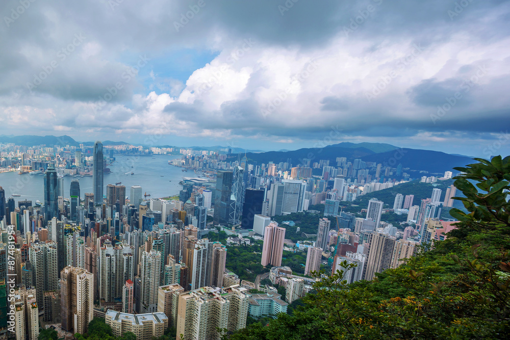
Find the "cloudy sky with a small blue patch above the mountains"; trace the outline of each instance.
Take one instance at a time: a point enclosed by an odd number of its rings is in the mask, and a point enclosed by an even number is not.
[[[0,135],[510,154],[510,2],[4,0]]]

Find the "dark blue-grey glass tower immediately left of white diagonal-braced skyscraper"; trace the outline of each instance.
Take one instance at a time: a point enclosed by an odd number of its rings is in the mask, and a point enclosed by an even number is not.
[[[215,225],[228,224],[228,219],[230,217],[233,177],[234,173],[227,170],[218,170],[216,174],[213,217],[213,222]]]

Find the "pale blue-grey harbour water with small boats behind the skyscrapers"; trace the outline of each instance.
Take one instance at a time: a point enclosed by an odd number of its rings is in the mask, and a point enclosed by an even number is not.
[[[104,194],[106,186],[121,182],[126,187],[126,195],[131,194],[132,186],[142,187],[142,194],[148,194],[146,198],[161,198],[178,195],[182,190],[179,184],[183,176],[196,177],[193,170],[183,172],[183,168],[168,164],[168,161],[181,158],[180,155],[152,155],[152,156],[119,156],[115,162],[108,166],[111,173],[104,177]],[[133,175],[131,174],[133,172]],[[64,176],[64,198],[69,198],[71,180],[78,179],[80,182],[80,196],[83,199],[85,193],[92,191],[92,177]],[[44,175],[22,174],[17,171],[0,173],[0,187],[5,190],[6,201],[12,194],[14,201],[31,200],[33,204],[37,200],[44,203]]]

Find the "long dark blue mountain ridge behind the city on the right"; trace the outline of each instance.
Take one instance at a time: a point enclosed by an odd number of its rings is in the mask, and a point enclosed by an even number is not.
[[[231,159],[237,159],[233,154]],[[453,167],[465,166],[472,163],[467,156],[451,155],[440,151],[420,150],[410,148],[397,148],[390,144],[381,143],[340,143],[328,145],[323,148],[303,148],[294,151],[269,151],[261,153],[247,153],[248,161],[259,164],[287,162],[290,160],[293,166],[304,164],[304,159],[311,159],[312,164],[320,160],[329,160],[329,164],[336,166],[336,159],[345,157],[347,161],[361,159],[365,162],[381,163],[383,166],[396,168],[402,164],[402,168],[414,171],[426,171],[428,173],[442,174],[452,170]]]

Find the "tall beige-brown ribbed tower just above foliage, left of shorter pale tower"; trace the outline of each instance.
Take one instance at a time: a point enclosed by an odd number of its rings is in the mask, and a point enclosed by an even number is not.
[[[381,232],[374,232],[370,241],[365,280],[371,281],[375,273],[382,273],[391,266],[395,239]]]

